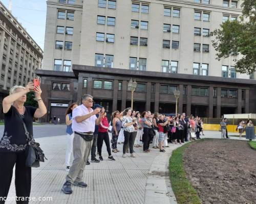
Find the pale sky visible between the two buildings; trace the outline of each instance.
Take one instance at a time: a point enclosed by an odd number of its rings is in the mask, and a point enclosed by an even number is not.
[[[9,0],[0,0],[8,8]],[[46,0],[12,0],[12,15],[44,50]]]

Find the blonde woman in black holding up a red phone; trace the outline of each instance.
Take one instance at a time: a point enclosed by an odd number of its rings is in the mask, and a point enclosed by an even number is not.
[[[27,100],[27,93],[35,92],[35,100],[38,108],[24,106]],[[33,135],[33,117],[40,118],[47,113],[46,106],[41,98],[39,86],[34,88],[34,84],[29,82],[25,87],[14,86],[10,90],[10,95],[3,100],[3,112],[5,117],[4,136],[0,141],[0,197],[7,197],[12,181],[12,170],[15,165],[15,189],[16,196],[23,197],[28,203],[31,190],[31,167],[26,167],[25,149],[27,137],[23,126],[23,121],[27,126],[30,135]]]

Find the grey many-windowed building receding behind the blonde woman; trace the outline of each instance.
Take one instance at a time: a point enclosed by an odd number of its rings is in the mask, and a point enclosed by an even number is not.
[[[25,86],[41,68],[42,50],[0,2],[0,89]]]

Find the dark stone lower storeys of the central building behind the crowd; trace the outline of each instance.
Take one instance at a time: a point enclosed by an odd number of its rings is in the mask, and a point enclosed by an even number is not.
[[[256,81],[225,79],[199,75],[161,73],[129,69],[73,65],[73,72],[37,70],[41,78],[42,98],[48,114],[65,122],[65,111],[74,102],[81,103],[83,94],[105,107],[108,114],[131,107],[131,91],[127,83],[136,80],[134,109],[159,113],[175,113],[174,90],[180,90],[179,113],[201,117],[218,117],[233,113],[255,113]]]

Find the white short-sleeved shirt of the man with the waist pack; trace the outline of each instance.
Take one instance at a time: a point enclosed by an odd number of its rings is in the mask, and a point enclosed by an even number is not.
[[[77,106],[72,111],[72,130],[80,133],[94,132],[95,122],[97,119],[96,115],[93,115],[90,118],[83,120],[82,122],[76,122],[75,120],[75,117],[77,116],[87,115],[92,112],[93,112],[93,109],[91,108],[88,109],[83,104],[80,106]]]

